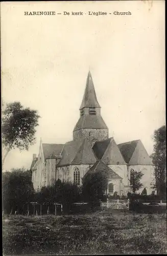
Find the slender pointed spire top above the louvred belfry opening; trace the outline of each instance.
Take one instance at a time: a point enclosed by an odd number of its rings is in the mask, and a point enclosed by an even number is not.
[[[88,72],[87,80],[86,80],[86,88],[83,96],[83,100],[80,106],[80,110],[83,108],[101,108],[99,102],[97,100],[96,92],[94,90],[93,80]]]

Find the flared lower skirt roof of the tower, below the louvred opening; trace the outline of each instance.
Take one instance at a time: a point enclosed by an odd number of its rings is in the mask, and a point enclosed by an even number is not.
[[[107,129],[108,127],[105,124],[103,118],[100,115],[89,115],[85,114],[80,117],[78,120],[74,131],[87,128],[87,129]]]

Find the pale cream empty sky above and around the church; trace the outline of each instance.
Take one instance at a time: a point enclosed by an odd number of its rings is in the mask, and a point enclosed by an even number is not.
[[[109,137],[117,144],[140,139],[152,153],[154,130],[165,124],[164,1],[3,2],[1,37],[3,100],[20,101],[41,116],[36,143],[29,151],[12,150],[5,170],[30,168],[40,138],[73,139],[89,70]]]

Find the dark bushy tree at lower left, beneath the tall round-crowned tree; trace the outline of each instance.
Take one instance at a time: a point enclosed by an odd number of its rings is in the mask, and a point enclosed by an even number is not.
[[[4,208],[21,205],[34,199],[31,172],[25,168],[12,169],[2,174]]]

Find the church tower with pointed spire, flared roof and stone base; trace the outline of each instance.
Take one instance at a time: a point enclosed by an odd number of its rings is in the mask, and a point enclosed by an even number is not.
[[[80,118],[73,131],[73,140],[82,137],[86,137],[92,145],[95,141],[108,139],[108,127],[101,116],[101,106],[97,100],[90,71],[80,106]]]

